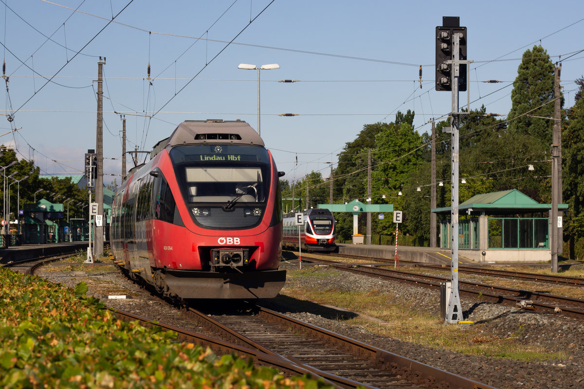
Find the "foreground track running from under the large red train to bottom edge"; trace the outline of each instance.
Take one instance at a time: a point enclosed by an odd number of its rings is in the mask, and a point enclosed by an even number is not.
[[[342,388],[489,388],[260,307],[238,314],[190,310],[200,325],[298,366]]]

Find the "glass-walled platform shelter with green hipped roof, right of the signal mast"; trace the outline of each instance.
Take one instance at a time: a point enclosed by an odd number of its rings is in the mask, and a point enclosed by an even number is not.
[[[561,212],[567,204],[559,204]],[[440,248],[451,248],[450,207],[434,208],[440,220]],[[458,206],[458,252],[475,261],[550,259],[551,204],[512,189],[475,195]],[[483,254],[484,253],[484,254]]]

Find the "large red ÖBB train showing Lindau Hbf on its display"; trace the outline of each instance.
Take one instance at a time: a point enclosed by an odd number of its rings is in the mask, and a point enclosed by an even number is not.
[[[284,286],[284,173],[249,124],[182,122],[130,174],[110,229],[128,275],[181,299],[272,298]]]

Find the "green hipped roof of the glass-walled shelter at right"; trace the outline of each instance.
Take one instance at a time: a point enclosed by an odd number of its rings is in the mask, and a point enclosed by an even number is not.
[[[503,215],[516,213],[547,212],[551,204],[540,204],[516,189],[478,194],[458,205],[459,213],[483,213]],[[568,204],[558,204],[558,209],[568,209]],[[450,214],[451,207],[433,208],[432,212]]]

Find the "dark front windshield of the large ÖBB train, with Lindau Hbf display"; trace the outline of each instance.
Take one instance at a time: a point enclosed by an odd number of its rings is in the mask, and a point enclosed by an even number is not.
[[[266,209],[270,161],[260,146],[188,145],[170,151],[183,198],[195,223],[251,228]]]

